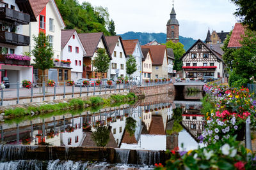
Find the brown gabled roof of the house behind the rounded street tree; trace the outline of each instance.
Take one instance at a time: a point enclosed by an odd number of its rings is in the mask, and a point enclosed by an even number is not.
[[[109,52],[108,44],[103,32],[83,33],[83,34],[78,34],[78,36],[86,51],[86,57],[93,57],[93,54],[95,53],[99,45],[100,39],[102,39],[104,46],[107,50],[106,53],[108,53],[109,58],[112,59],[111,54]]]

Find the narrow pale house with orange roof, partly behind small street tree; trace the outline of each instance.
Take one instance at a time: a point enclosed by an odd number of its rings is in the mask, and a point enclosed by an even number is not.
[[[123,44],[127,55],[127,59],[129,59],[129,56],[131,55],[136,59],[137,70],[131,75],[132,80],[142,82],[141,72],[143,53],[141,51],[140,42],[138,39],[129,39],[123,40]]]

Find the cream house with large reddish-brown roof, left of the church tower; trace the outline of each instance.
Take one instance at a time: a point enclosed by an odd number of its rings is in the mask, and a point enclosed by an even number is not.
[[[149,48],[152,54],[152,79],[168,78],[168,59],[165,45],[141,46],[142,49]]]

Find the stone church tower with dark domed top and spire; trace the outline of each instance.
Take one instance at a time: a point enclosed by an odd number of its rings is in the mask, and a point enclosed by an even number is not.
[[[179,42],[179,22],[176,19],[174,4],[172,4],[172,12],[170,13],[170,20],[168,20],[166,26],[167,26],[166,42],[172,40],[173,43],[178,43]]]

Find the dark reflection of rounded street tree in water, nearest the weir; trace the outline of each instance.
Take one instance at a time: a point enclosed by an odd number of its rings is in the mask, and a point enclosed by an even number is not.
[[[109,141],[109,130],[108,127],[99,126],[97,130],[92,133],[92,138],[97,146],[104,147]]]

